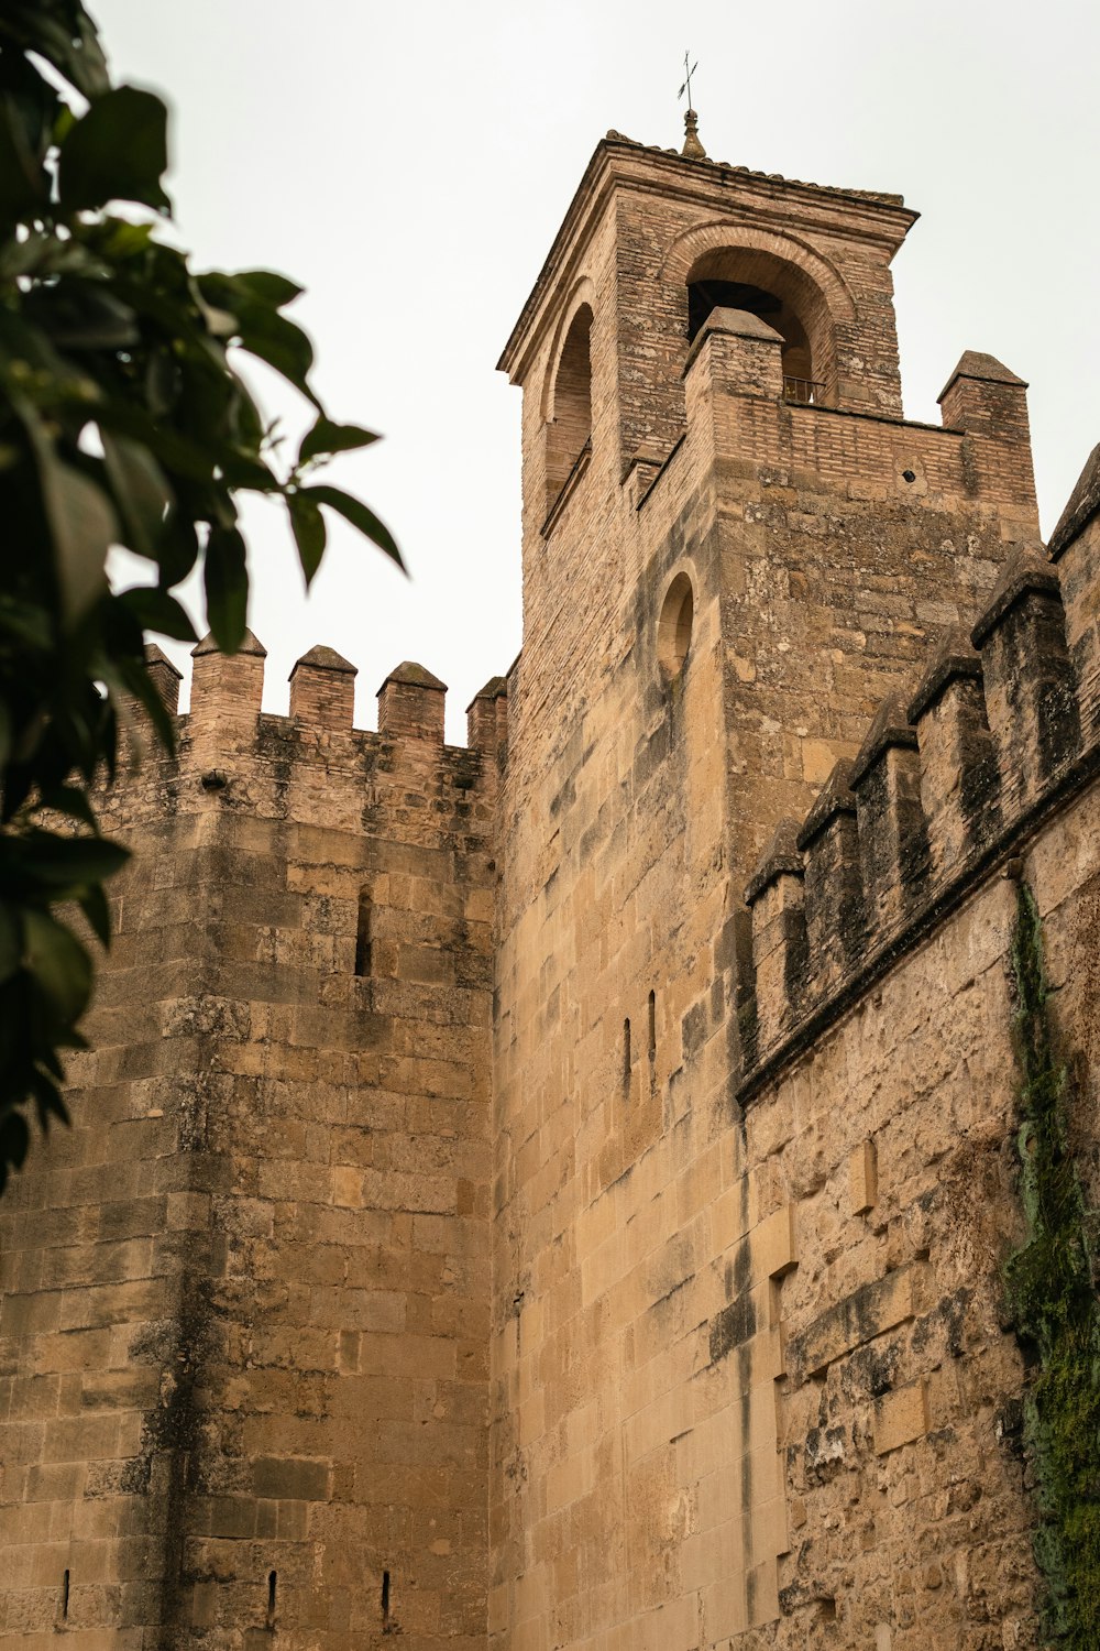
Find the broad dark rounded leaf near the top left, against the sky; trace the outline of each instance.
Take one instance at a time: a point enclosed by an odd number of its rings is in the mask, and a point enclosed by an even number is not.
[[[58,165],[66,211],[106,206],[112,200],[170,206],[160,180],[168,165],[168,111],[155,92],[119,86],[104,92],[76,122]]]

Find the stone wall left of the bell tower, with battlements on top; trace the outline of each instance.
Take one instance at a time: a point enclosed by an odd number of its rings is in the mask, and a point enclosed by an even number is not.
[[[3,1643],[483,1643],[498,712],[447,748],[402,669],[361,733],[315,654],[280,718],[200,650],[104,804],[74,1128],[0,1209]]]

